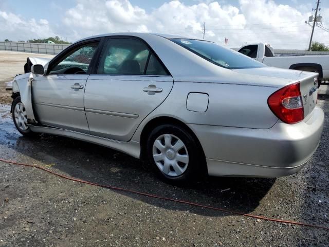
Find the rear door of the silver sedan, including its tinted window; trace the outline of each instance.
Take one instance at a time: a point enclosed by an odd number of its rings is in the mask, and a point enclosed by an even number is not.
[[[154,51],[134,37],[105,41],[85,89],[92,135],[128,141],[140,122],[166,99],[173,78]]]

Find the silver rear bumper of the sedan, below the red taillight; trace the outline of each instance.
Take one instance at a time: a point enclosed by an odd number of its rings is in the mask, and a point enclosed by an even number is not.
[[[189,124],[216,176],[281,177],[299,171],[316,151],[324,113],[316,107],[307,120],[270,129]]]

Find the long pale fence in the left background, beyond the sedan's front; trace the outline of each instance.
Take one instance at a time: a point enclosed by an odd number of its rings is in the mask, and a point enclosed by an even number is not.
[[[23,51],[41,54],[58,54],[69,45],[70,44],[0,42],[0,50]]]

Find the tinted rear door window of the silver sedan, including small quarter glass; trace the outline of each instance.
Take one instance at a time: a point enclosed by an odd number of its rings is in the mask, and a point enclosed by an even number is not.
[[[168,75],[167,70],[143,42],[128,38],[108,39],[97,74]]]

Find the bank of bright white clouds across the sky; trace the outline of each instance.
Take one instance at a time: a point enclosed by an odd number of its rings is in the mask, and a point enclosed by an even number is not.
[[[303,49],[308,46],[310,35],[310,27],[304,23],[311,14],[309,8],[292,7],[293,1],[281,5],[272,0],[240,0],[236,6],[230,1],[196,0],[192,5],[171,1],[152,11],[134,6],[129,0],[76,2],[76,6],[66,10],[61,22],[56,24],[44,19],[23,20],[20,16],[0,11],[0,25],[7,28],[0,33],[0,40],[7,38],[5,34],[13,34],[10,39],[26,39],[26,35],[28,38],[47,37],[56,33],[75,41],[99,33],[126,31],[202,38],[204,22],[206,39],[223,44],[228,38],[229,47],[266,42],[275,48]],[[322,8],[321,12],[323,16],[325,13],[329,16],[328,8]],[[328,43],[328,39],[328,32],[316,28],[314,40]]]

